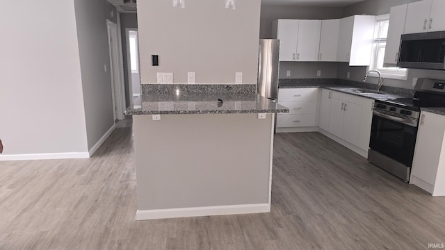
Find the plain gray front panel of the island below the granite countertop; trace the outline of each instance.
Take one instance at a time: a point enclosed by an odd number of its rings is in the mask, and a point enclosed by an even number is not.
[[[135,115],[133,128],[138,210],[268,203],[271,114]]]

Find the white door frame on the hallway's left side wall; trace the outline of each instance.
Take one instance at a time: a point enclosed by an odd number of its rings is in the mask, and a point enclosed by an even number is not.
[[[108,54],[110,59],[110,76],[111,76],[111,96],[113,99],[113,117],[114,119],[124,119],[125,111],[125,92],[123,90],[121,69],[119,56],[119,31],[118,24],[106,19],[106,30],[108,35]],[[115,42],[112,42],[115,41]],[[113,63],[116,62],[116,63]]]

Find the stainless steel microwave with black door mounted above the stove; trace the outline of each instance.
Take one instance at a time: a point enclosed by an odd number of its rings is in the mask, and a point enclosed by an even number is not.
[[[398,67],[445,70],[445,31],[404,34]]]

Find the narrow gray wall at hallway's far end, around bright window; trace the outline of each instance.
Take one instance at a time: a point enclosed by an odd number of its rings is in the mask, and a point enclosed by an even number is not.
[[[124,83],[125,83],[125,104],[130,106],[131,87],[128,79],[128,61],[127,61],[127,34],[125,28],[138,28],[138,15],[131,13],[120,14],[120,33],[122,38],[122,58],[124,61]],[[140,90],[139,90],[140,91]]]

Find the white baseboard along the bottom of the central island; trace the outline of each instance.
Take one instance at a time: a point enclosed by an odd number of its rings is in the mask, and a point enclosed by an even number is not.
[[[248,213],[267,213],[267,212],[270,212],[270,205],[268,203],[232,205],[232,206],[208,206],[208,207],[197,207],[197,208],[137,210],[136,220],[197,217],[197,216],[209,216],[209,215],[238,215],[238,214],[248,214]]]

